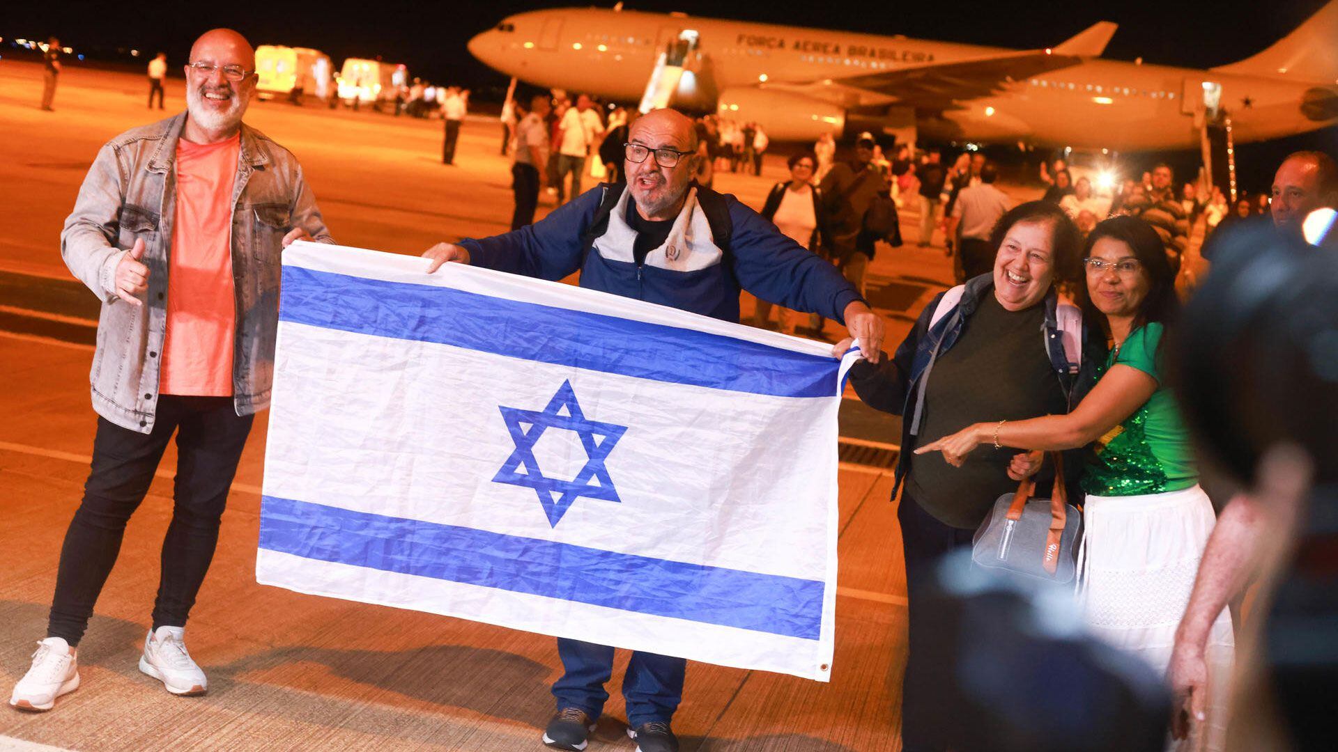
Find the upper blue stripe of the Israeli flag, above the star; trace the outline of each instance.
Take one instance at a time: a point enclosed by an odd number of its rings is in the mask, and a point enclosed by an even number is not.
[[[723,335],[408,282],[284,266],[280,318],[785,397],[838,395],[839,361]]]

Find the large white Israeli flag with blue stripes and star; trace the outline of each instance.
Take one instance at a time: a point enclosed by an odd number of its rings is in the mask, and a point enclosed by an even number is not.
[[[827,681],[830,347],[425,268],[284,252],[257,581]]]

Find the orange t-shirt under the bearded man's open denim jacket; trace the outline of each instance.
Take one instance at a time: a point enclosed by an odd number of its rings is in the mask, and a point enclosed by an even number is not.
[[[233,183],[241,134],[219,143],[177,140],[177,218],[167,268],[167,340],[158,391],[233,393]]]

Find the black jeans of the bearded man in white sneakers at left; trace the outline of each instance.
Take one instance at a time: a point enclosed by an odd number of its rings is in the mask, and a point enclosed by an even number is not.
[[[153,625],[186,626],[195,594],[214,558],[227,487],[254,416],[238,417],[233,397],[162,395],[153,434],[98,419],[92,468],[83,503],[64,546],[47,637],[78,645],[88,628],[126,533],[130,515],[149,492],[167,442],[177,434],[177,478],[171,525],[163,539],[162,571]]]

